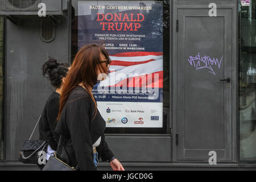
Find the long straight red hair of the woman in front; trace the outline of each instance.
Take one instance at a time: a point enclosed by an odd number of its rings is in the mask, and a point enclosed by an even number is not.
[[[94,117],[96,116],[97,104],[92,94],[92,88],[97,84],[97,70],[100,69],[101,73],[108,75],[108,67],[106,63],[100,63],[102,55],[106,60],[110,61],[106,49],[97,44],[88,44],[77,52],[71,68],[68,71],[68,75],[60,95],[60,107],[57,120],[60,119],[61,112],[68,100],[69,93],[80,83],[84,85],[85,90],[90,94],[90,97],[94,102]]]

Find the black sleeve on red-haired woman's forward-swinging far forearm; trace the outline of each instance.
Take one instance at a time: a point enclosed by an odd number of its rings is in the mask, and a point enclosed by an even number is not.
[[[105,141],[104,135],[101,136],[101,143],[98,147],[96,147],[96,150],[100,154],[102,161],[109,160],[114,156],[113,152],[109,150],[109,147]]]

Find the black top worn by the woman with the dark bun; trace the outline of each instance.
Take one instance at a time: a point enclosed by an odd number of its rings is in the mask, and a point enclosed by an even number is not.
[[[59,135],[55,133],[56,119],[59,113],[60,94],[53,92],[44,106],[39,121],[39,138],[45,140],[53,150],[57,150]]]

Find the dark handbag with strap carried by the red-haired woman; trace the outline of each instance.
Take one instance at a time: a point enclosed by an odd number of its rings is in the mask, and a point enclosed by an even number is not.
[[[59,143],[57,146],[57,151],[59,151],[60,144],[62,143],[62,136],[60,136]],[[68,154],[65,154],[68,155]],[[77,164],[76,167],[71,167],[67,163],[63,162],[63,160],[57,158],[57,153],[54,153],[54,156],[50,156],[48,162],[42,169],[42,171],[76,171],[79,168]]]

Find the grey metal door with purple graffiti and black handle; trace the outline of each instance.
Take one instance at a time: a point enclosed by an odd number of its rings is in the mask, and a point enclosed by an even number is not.
[[[179,160],[232,160],[232,10],[177,10]]]

